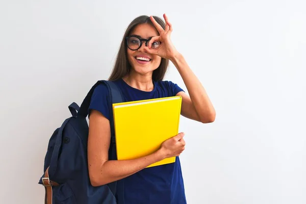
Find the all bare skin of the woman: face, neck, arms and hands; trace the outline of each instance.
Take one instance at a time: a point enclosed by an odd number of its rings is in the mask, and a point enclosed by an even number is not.
[[[187,118],[209,123],[215,120],[215,110],[211,101],[192,72],[184,57],[177,52],[171,42],[170,35],[172,25],[164,14],[166,22],[165,30],[151,16],[154,27],[150,24],[139,24],[132,31],[131,35],[139,35],[141,38],[148,39],[153,37],[148,46],[143,42],[138,50],[127,48],[127,58],[131,64],[132,70],[123,77],[123,80],[130,86],[142,91],[151,91],[154,88],[152,83],[152,73],[158,68],[161,58],[169,59],[181,74],[181,77],[190,94],[179,92],[182,100],[181,114]],[[151,48],[154,41],[161,41],[158,48]],[[150,62],[140,64],[135,57],[144,55],[150,58]],[[108,160],[108,149],[111,141],[110,122],[98,111],[92,111],[89,119],[88,136],[88,169],[91,184],[100,186],[111,183],[126,176],[132,175],[150,164],[161,161],[165,158],[180,156],[185,149],[184,133],[180,133],[161,145],[161,148],[151,155],[133,160]]]

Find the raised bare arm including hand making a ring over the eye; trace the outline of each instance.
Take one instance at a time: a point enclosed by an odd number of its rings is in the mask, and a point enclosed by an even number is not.
[[[200,81],[190,69],[184,57],[177,52],[171,42],[170,35],[173,30],[172,24],[169,22],[166,14],[164,14],[164,18],[166,21],[165,29],[150,16],[152,23],[155,25],[160,35],[152,37],[148,46],[144,48],[149,54],[158,55],[162,58],[171,60],[176,69],[179,70],[190,94],[190,96],[184,92],[177,94],[181,95],[183,98],[182,115],[203,123],[213,122],[216,117],[215,109]],[[152,43],[155,41],[160,41],[161,45],[157,48],[151,48]]]

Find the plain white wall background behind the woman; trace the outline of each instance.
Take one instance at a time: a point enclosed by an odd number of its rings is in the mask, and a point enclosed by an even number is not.
[[[188,203],[306,203],[306,3],[2,1],[1,203],[42,203],[47,142],[107,79],[124,30],[168,14],[214,123],[181,119]],[[186,87],[170,64],[165,80]]]

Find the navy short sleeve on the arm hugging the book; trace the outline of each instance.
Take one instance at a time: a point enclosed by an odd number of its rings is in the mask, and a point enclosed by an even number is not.
[[[110,120],[109,93],[108,88],[103,84],[98,85],[93,91],[88,113],[90,114],[92,110],[99,111]]]

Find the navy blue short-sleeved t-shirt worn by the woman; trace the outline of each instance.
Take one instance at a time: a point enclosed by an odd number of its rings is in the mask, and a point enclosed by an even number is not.
[[[182,88],[170,81],[154,82],[154,90],[141,91],[126,84],[122,79],[115,81],[125,101],[175,96]],[[94,109],[110,119],[108,89],[105,85],[95,88],[89,111]],[[150,168],[125,177],[124,204],[186,204],[184,181],[179,157],[175,162]]]

